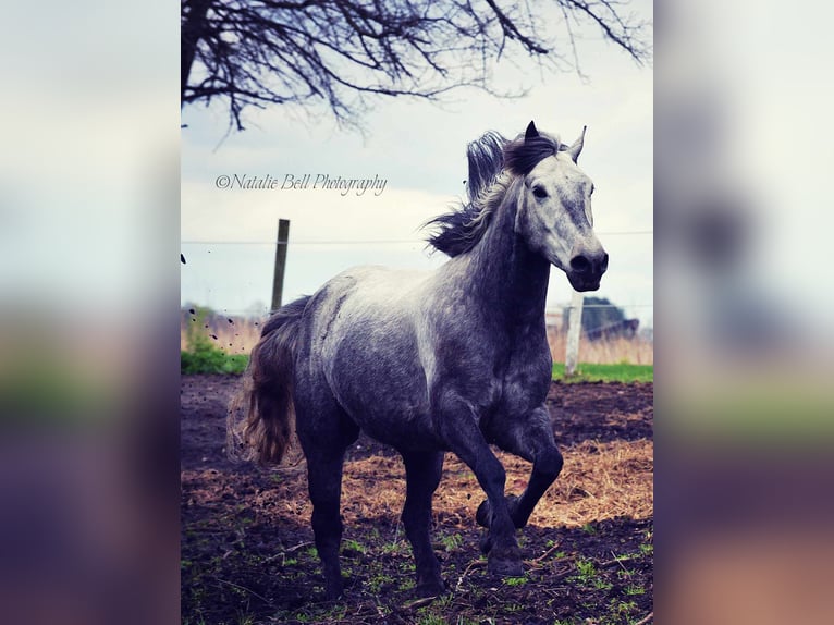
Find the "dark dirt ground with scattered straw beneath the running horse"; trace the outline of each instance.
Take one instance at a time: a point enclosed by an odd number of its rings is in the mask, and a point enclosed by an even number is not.
[[[478,543],[483,499],[446,454],[434,549],[450,591],[416,600],[398,523],[405,482],[393,450],[360,438],[345,463],[345,597],[328,602],[309,525],[304,458],[274,468],[224,455],[235,376],[183,376],[182,621],[254,623],[646,624],[653,610],[652,384],[553,383],[548,405],[565,457],[519,531],[525,576],[492,578]],[[500,454],[507,492],[529,464]]]

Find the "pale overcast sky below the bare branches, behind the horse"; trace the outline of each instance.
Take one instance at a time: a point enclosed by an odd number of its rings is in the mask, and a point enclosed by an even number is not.
[[[631,8],[651,19],[650,2]],[[466,144],[487,130],[512,137],[535,120],[565,142],[588,126],[579,163],[594,181],[594,229],[611,256],[593,295],[652,324],[652,70],[598,38],[581,41],[579,54],[587,79],[575,73],[542,76],[532,62],[527,73],[502,69],[499,88],[529,88],[519,99],[464,90],[443,107],[380,99],[363,120],[364,136],[329,119],[311,123],[286,107],[249,111],[247,130],[225,136],[222,108],[185,108],[182,302],[229,314],[269,304],[279,218],[291,220],[284,302],[315,292],[354,265],[439,266],[445,257],[426,249],[419,226],[462,197]],[[379,195],[361,196],[218,188],[219,176],[235,174],[269,175],[279,186],[287,175],[304,174],[378,176],[387,185]],[[357,243],[369,241],[391,243]],[[564,273],[553,269],[549,306],[569,302],[571,293]]]

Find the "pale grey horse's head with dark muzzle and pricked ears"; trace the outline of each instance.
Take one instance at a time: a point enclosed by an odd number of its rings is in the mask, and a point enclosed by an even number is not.
[[[505,148],[505,163],[524,176],[516,232],[533,252],[567,274],[576,291],[596,291],[609,255],[593,233],[593,183],[577,166],[582,134],[569,147],[540,134],[530,122]]]

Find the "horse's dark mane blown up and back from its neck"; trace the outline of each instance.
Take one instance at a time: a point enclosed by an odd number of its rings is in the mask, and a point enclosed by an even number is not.
[[[429,236],[429,244],[451,257],[469,252],[483,238],[513,180],[527,175],[541,160],[564,149],[559,137],[543,133],[527,139],[522,135],[511,142],[488,131],[470,142],[466,146],[467,201],[426,223],[437,229]]]

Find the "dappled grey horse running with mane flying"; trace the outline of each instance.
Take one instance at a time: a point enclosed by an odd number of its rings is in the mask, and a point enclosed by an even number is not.
[[[252,352],[230,410],[229,449],[281,461],[293,431],[307,459],[312,529],[328,598],[343,590],[342,465],[359,431],[396,449],[407,488],[402,519],[419,596],[444,591],[431,541],[431,499],[444,452],[474,471],[487,499],[481,548],[498,576],[523,574],[522,528],[562,469],[544,399],[550,266],[577,291],[599,289],[608,254],[593,233],[593,184],[572,145],[530,122],[513,140],[468,146],[468,203],[430,222],[450,256],[428,272],[348,269],[279,309]],[[243,413],[243,414],[241,414]],[[490,444],[532,463],[520,497]]]

